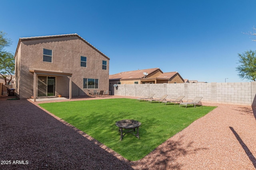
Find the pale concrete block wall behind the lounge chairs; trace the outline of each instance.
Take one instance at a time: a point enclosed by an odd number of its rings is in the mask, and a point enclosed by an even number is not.
[[[203,97],[202,102],[256,106],[256,82],[239,83],[180,83],[180,84],[118,84],[110,85],[110,91],[118,96],[143,97],[155,94],[168,95],[167,99],[186,96],[184,100]]]

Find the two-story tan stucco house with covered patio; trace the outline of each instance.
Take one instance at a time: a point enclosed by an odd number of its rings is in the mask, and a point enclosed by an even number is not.
[[[76,33],[20,38],[14,57],[19,98],[108,90],[110,59]]]

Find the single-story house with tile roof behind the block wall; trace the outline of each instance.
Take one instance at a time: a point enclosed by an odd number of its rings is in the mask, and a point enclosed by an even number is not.
[[[109,76],[110,84],[160,84],[160,83],[184,83],[178,72],[162,72],[160,68],[149,68],[120,72]]]

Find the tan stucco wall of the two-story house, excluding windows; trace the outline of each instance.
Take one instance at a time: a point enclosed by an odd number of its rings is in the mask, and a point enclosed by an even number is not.
[[[43,49],[52,50],[52,63],[43,62]],[[83,88],[83,78],[99,79],[99,88],[96,90],[108,90],[109,60],[76,36],[23,40],[19,50],[16,56],[17,64],[20,58],[20,72],[16,73],[19,74],[16,79],[19,86],[16,88],[20,98],[32,96],[34,78],[29,69],[72,73],[72,96],[84,96],[88,93]],[[87,57],[87,67],[80,66],[81,56]],[[107,70],[102,70],[102,60],[107,61]],[[17,66],[16,69],[18,72]],[[69,77],[56,76],[56,93],[69,95]]]

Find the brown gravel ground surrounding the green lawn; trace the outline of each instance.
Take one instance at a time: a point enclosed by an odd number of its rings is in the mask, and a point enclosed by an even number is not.
[[[143,159],[131,162],[38,103],[0,98],[0,163],[11,160],[0,164],[1,170],[256,169],[256,109],[250,106],[203,103],[218,107]],[[19,164],[14,164],[16,160]]]

